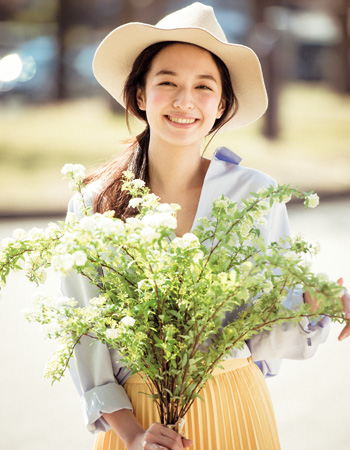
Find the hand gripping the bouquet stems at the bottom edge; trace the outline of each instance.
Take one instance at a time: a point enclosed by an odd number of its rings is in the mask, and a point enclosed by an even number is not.
[[[137,435],[131,450],[183,450],[193,444],[191,439],[181,438],[170,428],[153,423],[144,433]]]

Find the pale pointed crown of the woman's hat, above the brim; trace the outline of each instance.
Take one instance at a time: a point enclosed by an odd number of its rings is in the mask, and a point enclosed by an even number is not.
[[[225,33],[215,17],[213,8],[199,2],[168,14],[156,24],[156,27],[165,30],[202,28],[220,41],[227,43]]]

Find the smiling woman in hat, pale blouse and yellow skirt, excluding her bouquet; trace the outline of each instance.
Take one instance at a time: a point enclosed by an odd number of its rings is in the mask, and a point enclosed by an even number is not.
[[[176,234],[182,236],[197,218],[210,216],[211,202],[219,195],[240,201],[273,183],[239,166],[240,158],[226,148],[218,149],[211,162],[201,156],[206,136],[246,125],[267,107],[256,55],[227,43],[212,8],[194,3],[156,26],[117,28],[97,50],[94,71],[127,114],[146,124],[121,157],[85,180],[86,202],[95,211],[114,209],[122,218],[132,214],[120,189],[121,174],[129,169],[162,202],[181,205]],[[69,211],[79,215],[77,199]],[[289,233],[283,205],[274,205],[268,221],[261,230],[266,242]],[[71,275],[63,281],[63,294],[87,304],[94,292],[84,279]],[[286,304],[295,307],[303,300],[302,292],[293,291]],[[312,303],[307,293],[305,300]],[[348,296],[343,300],[349,303]],[[234,313],[227,315],[224,324],[233,319]],[[196,450],[280,448],[263,373],[276,373],[279,358],[312,356],[327,332],[327,319],[316,325],[305,319],[299,327],[283,324],[260,333],[243,350],[233,351],[225,370],[206,385],[205,402],[197,400],[186,417],[191,440],[157,423],[155,406],[140,394],[145,391],[142,380],[129,377],[115,351],[82,340],[71,369],[88,429],[101,431],[95,450],[180,450],[192,444]],[[342,337],[349,334],[347,327]]]

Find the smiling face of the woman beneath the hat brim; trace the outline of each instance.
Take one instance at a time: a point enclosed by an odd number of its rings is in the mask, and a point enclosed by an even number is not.
[[[137,92],[152,145],[195,146],[225,110],[221,76],[211,54],[194,45],[172,44],[153,59],[145,88]]]

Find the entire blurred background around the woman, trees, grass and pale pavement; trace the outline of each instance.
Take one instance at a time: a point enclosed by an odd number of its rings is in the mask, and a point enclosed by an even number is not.
[[[124,147],[124,113],[91,69],[101,39],[190,3],[0,0],[0,241],[64,217],[64,164],[89,171]],[[292,229],[321,242],[316,271],[350,286],[350,0],[205,3],[230,42],[259,55],[270,101],[264,117],[217,136],[206,156],[226,145],[243,165],[318,192],[315,211],[290,206]],[[56,292],[55,276],[45,289]],[[14,274],[0,301],[0,448],[89,450],[69,376],[54,387],[43,379],[55,345],[21,315],[34,290]],[[285,361],[269,380],[282,450],[349,448],[350,342],[339,344],[339,332],[334,326],[314,358]]]

